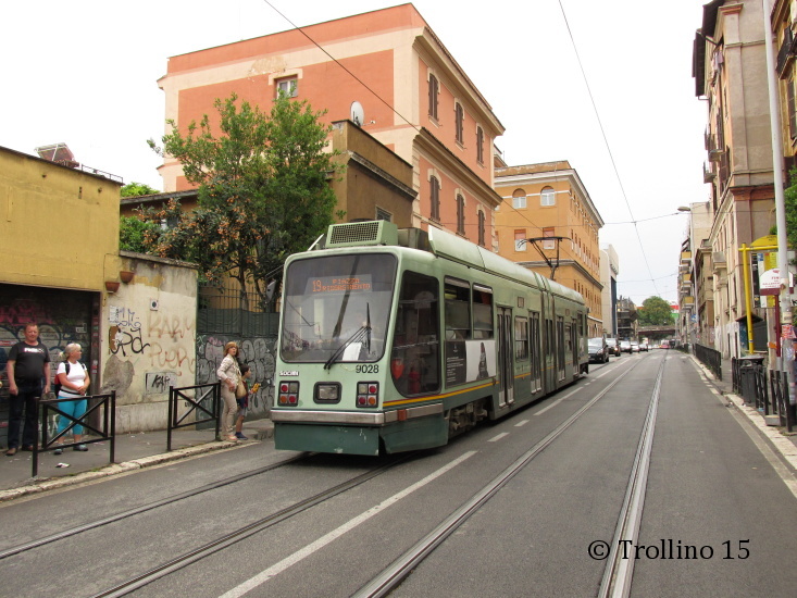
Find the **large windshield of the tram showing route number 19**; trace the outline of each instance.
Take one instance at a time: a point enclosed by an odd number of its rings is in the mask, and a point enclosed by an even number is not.
[[[377,361],[396,258],[358,253],[297,260],[285,274],[281,356],[286,362]]]

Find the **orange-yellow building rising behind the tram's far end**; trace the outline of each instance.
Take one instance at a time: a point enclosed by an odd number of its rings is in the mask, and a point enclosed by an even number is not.
[[[598,232],[603,221],[564,160],[496,167],[498,253],[582,294],[589,336],[603,334]]]

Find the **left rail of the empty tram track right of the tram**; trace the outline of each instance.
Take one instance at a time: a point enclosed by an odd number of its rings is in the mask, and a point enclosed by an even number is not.
[[[398,586],[404,577],[407,577],[411,571],[416,568],[437,546],[446,540],[460,525],[462,525],[473,513],[478,511],[495,494],[498,493],[512,477],[518,475],[523,468],[525,468],[534,458],[543,452],[549,445],[551,445],[564,431],[573,425],[588,409],[590,409],[596,402],[603,398],[617,384],[620,383],[626,375],[628,375],[637,365],[639,361],[634,363],[625,372],[623,372],[618,378],[615,378],[609,386],[593,397],[587,403],[584,404],[578,411],[573,413],[563,423],[561,423],[553,432],[548,434],[539,443],[534,445],[525,453],[519,457],[511,465],[505,469],[496,477],[494,477],[487,485],[484,486],[478,493],[473,495],[466,502],[464,502],[459,509],[451,513],[443,523],[424,536],[407,552],[401,555],[386,569],[384,569],[378,575],[376,575],[371,582],[362,586],[357,593],[352,595],[353,598],[365,598],[365,597],[378,597],[386,596],[393,589]]]

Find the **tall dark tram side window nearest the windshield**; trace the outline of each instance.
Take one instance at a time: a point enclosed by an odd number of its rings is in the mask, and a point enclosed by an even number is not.
[[[390,356],[393,381],[403,396],[434,393],[440,387],[438,304],[436,278],[404,273]]]

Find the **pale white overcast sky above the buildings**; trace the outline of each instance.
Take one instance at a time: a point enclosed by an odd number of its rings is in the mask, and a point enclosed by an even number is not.
[[[618,292],[636,304],[677,301],[677,208],[709,199],[692,77],[707,1],[413,2],[506,127],[507,163],[576,170],[606,223],[600,245],[619,254]],[[3,2],[0,146],[65,142],[83,164],[162,189],[147,139],[164,134],[170,57],[399,3]]]

